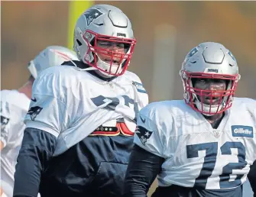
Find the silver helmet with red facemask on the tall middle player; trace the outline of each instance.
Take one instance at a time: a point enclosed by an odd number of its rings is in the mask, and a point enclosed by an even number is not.
[[[76,22],[73,38],[73,49],[79,59],[108,77],[125,73],[136,44],[130,20],[112,5],[93,5],[87,9]],[[123,44],[125,53],[97,47],[99,40]],[[99,54],[109,60],[101,60]]]

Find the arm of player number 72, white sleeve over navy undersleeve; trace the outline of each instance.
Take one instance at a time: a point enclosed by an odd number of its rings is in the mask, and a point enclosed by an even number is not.
[[[125,197],[146,197],[165,160],[163,141],[167,137],[157,128],[156,121],[144,115],[145,111],[143,108],[138,116],[135,145],[125,175]]]

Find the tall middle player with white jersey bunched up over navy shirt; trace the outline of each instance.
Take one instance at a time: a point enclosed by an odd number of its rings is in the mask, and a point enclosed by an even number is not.
[[[126,70],[136,43],[131,23],[112,5],[93,5],[73,38],[79,61],[34,82],[14,196],[122,196],[136,114],[148,102]]]

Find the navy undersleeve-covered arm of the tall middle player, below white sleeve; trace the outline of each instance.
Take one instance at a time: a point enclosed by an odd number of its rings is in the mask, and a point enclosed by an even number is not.
[[[14,196],[37,196],[41,173],[53,156],[57,138],[37,128],[26,128],[15,171]]]

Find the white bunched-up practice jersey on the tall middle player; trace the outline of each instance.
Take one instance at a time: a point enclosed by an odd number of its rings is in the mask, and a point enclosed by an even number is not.
[[[147,103],[147,92],[134,73],[105,82],[75,66],[53,66],[34,81],[24,122],[57,137],[56,156],[101,125],[115,127],[119,118],[134,131],[138,110]]]

